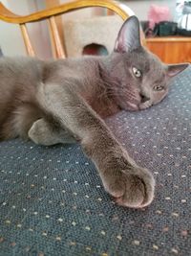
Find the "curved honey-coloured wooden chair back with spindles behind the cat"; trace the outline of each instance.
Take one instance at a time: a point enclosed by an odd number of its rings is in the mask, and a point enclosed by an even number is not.
[[[39,20],[47,19],[50,25],[50,33],[52,37],[53,49],[55,51],[55,58],[66,58],[66,53],[58,32],[55,16],[66,12],[72,12],[88,7],[103,7],[117,13],[122,19],[126,19],[132,14],[132,11],[121,3],[112,0],[76,0],[74,2],[62,4],[41,12],[34,12],[30,15],[17,15],[9,11],[2,3],[0,3],[0,19],[6,22],[18,24],[20,26],[27,54],[35,56],[30,35],[28,34],[26,24],[29,22],[36,22]]]

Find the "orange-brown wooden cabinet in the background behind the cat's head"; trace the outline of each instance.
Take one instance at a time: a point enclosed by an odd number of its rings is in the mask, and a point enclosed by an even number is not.
[[[191,37],[147,38],[146,44],[165,63],[191,62]]]

